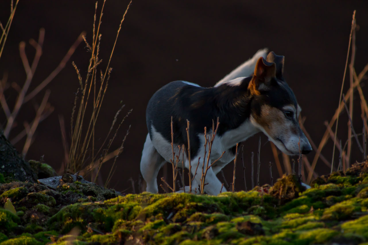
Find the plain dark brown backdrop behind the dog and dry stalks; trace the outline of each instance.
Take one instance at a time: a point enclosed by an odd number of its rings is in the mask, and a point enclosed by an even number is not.
[[[22,84],[25,72],[19,57],[18,45],[22,40],[37,39],[41,27],[46,29],[43,56],[36,71],[31,89],[41,82],[67,52],[81,31],[92,38],[94,1],[40,1],[20,0],[11,27],[5,51],[0,60],[0,77],[8,73],[10,82]],[[99,2],[101,6],[102,2]],[[102,23],[103,62],[106,67],[116,30],[127,6],[127,1],[107,0]],[[151,95],[164,84],[183,79],[201,86],[212,86],[233,68],[250,58],[258,49],[268,47],[286,57],[285,77],[297,96],[298,103],[307,117],[305,127],[316,143],[319,143],[325,126],[337,107],[343,78],[348,35],[353,10],[360,27],[357,32],[357,56],[355,68],[360,72],[368,62],[368,2],[367,1],[142,1],[133,0],[123,23],[121,35],[111,62],[113,73],[99,118],[99,137],[106,134],[113,116],[126,104],[124,113],[133,113],[123,125],[121,143],[128,125],[131,132],[125,142],[112,187],[131,192],[128,178],[138,180],[139,160],[147,133],[145,108]],[[10,11],[9,1],[0,3],[0,20],[6,22]],[[26,47],[29,57],[33,48]],[[85,45],[80,45],[66,68],[49,84],[50,103],[55,107],[52,115],[38,128],[35,142],[27,159],[39,159],[58,168],[63,159],[58,115],[66,118],[67,130],[74,92],[78,88],[77,76],[71,61],[75,61],[85,74],[89,60]],[[348,77],[347,77],[348,78]],[[348,79],[346,80],[348,86]],[[346,89],[347,89],[346,86]],[[346,91],[345,89],[345,91]],[[363,88],[367,94],[367,88]],[[9,91],[8,91],[9,92]],[[8,95],[9,102],[14,93]],[[36,97],[40,102],[43,93]],[[355,96],[357,97],[357,96]],[[358,100],[355,100],[358,101]],[[361,132],[360,105],[355,103],[354,127]],[[25,106],[17,118],[22,122],[34,116],[32,106]],[[1,115],[1,123],[4,122]],[[346,140],[347,118],[340,121],[339,137]],[[15,130],[16,131],[16,130]],[[15,132],[14,131],[14,132]],[[268,161],[273,161],[269,143],[262,136],[261,184],[269,182]],[[244,160],[250,169],[251,152],[256,152],[258,136],[244,146]],[[21,150],[22,142],[17,145]],[[353,145],[352,159],[361,160],[361,154]],[[323,153],[332,157],[330,142]],[[312,160],[314,153],[308,155]],[[336,159],[336,158],[335,158]],[[241,163],[241,162],[239,162]],[[224,171],[230,182],[232,164]],[[105,170],[110,166],[106,165]],[[242,171],[238,166],[236,186],[243,187]],[[273,167],[277,177],[276,166]],[[320,174],[328,173],[322,162],[317,164]],[[106,176],[106,171],[103,172]],[[247,176],[250,176],[249,171]],[[247,180],[248,186],[250,180]]]

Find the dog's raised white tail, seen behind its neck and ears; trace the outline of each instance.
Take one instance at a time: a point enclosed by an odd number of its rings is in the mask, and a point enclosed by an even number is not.
[[[255,53],[252,58],[245,61],[243,64],[239,65],[232,72],[227,74],[223,79],[218,81],[215,87],[220,86],[221,84],[228,82],[234,78],[249,77],[254,72],[255,64],[258,58],[259,57],[266,58],[267,52],[268,52],[267,48],[258,50],[257,53]]]

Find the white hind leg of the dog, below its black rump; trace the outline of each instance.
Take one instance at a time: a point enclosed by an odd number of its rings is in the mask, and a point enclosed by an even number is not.
[[[157,185],[157,174],[160,168],[166,161],[157,152],[152,144],[149,134],[147,134],[146,142],[143,146],[142,158],[141,158],[141,173],[146,181],[147,188],[146,191],[157,193],[159,191]]]

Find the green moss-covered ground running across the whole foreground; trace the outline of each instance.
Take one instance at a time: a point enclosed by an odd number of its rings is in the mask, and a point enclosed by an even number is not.
[[[259,190],[117,196],[80,182],[5,183],[0,245],[368,244],[368,161],[311,189],[289,175]]]

